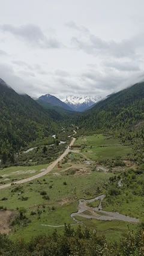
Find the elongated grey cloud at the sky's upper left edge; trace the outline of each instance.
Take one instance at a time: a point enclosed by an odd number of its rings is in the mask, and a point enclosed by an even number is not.
[[[31,46],[43,49],[59,48],[61,43],[55,38],[47,38],[41,28],[34,24],[13,26],[10,24],[0,25],[0,29],[4,32],[10,32],[15,37],[27,41]]]

